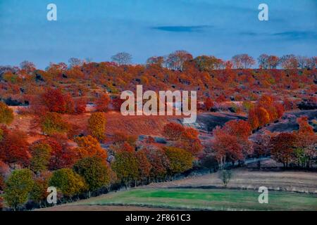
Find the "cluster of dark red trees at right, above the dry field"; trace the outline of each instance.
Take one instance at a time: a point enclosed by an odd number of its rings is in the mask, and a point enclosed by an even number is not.
[[[228,162],[243,161],[248,156],[271,155],[284,167],[311,167],[316,158],[317,135],[308,123],[307,117],[297,119],[299,130],[290,133],[256,134],[249,139],[251,126],[242,120],[230,121],[213,130],[211,152],[224,168]]]

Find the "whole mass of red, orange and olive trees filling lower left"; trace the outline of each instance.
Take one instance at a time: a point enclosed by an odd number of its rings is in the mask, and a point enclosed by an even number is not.
[[[110,150],[113,158],[109,160],[108,151],[99,143],[105,133],[103,113],[93,113],[88,120],[89,133],[94,137],[73,137],[76,148],[71,148],[61,134],[61,124],[66,122],[59,113],[48,112],[43,117],[47,136],[32,144],[27,143],[22,131],[6,126],[0,129],[0,189],[4,190],[6,204],[14,209],[27,201],[45,205],[48,186],[58,188],[59,198],[65,200],[82,193],[89,196],[112,184],[130,186],[167,179],[192,168],[190,146],[143,146],[136,150],[136,139],[125,135],[114,138]],[[60,124],[56,124],[56,117]],[[184,141],[198,139],[197,133],[187,131],[190,138],[186,129],[180,135]]]

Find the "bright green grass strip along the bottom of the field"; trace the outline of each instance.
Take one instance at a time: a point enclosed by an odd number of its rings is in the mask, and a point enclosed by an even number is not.
[[[74,205],[133,205],[188,210],[317,210],[317,196],[269,191],[268,204],[246,190],[140,188],[84,200]]]

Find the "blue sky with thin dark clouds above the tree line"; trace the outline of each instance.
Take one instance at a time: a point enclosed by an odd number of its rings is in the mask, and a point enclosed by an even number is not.
[[[47,4],[58,20],[46,20]],[[269,20],[258,20],[268,4]],[[230,59],[237,53],[316,56],[316,0],[0,0],[0,65],[45,68],[68,58],[133,63],[184,49]]]

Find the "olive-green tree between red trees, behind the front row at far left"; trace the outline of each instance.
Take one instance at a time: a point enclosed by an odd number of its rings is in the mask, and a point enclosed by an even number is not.
[[[32,155],[30,168],[34,172],[42,172],[47,169],[51,157],[51,146],[46,143],[35,143],[30,147]]]

